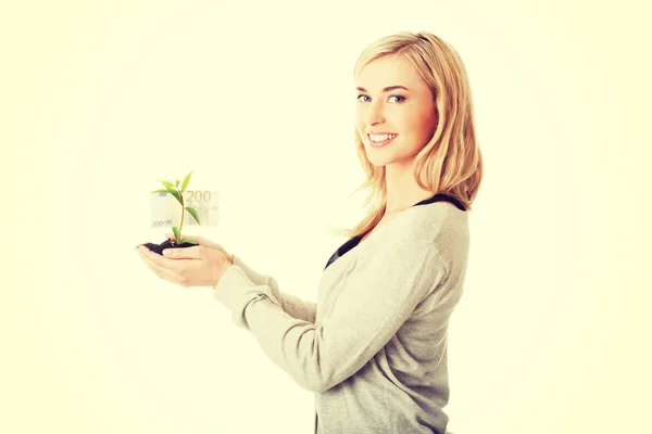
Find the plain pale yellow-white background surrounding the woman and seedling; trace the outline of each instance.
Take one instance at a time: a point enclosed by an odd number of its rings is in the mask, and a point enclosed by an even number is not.
[[[650,432],[639,3],[3,5],[0,431],[312,432],[313,395],[211,289],[140,260],[137,244],[163,241],[149,192],[195,170],[223,216],[192,233],[315,299],[343,241],[324,228],[360,217],[344,202],[362,181],[355,59],[427,30],[465,62],[486,167],[450,324],[449,429]]]

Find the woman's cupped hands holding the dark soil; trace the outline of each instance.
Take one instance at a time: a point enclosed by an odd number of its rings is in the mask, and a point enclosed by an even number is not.
[[[197,242],[199,237],[188,237]],[[201,244],[185,248],[165,248],[161,256],[143,245],[136,248],[150,270],[161,279],[188,286],[215,286],[233,264],[224,250]]]

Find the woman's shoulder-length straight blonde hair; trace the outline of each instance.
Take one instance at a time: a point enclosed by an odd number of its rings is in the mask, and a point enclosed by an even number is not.
[[[453,196],[471,210],[482,179],[482,155],[476,144],[473,99],[462,59],[432,34],[403,31],[380,38],[364,49],[355,62],[354,77],[369,62],[388,54],[404,55],[416,67],[430,87],[437,108],[437,130],[414,159],[415,180],[422,189]],[[367,159],[358,130],[354,140],[365,180],[353,193],[371,191],[363,206],[371,202],[374,206],[353,229],[330,229],[348,238],[373,229],[387,207],[385,166],[374,166]]]

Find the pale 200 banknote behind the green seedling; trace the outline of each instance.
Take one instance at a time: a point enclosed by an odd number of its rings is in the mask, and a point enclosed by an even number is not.
[[[170,193],[150,193],[152,228],[178,227],[181,220],[181,204]],[[217,226],[220,218],[220,193],[211,190],[186,190],[184,192],[184,228],[189,226]],[[197,212],[199,225],[185,207]],[[181,229],[183,232],[183,229]]]

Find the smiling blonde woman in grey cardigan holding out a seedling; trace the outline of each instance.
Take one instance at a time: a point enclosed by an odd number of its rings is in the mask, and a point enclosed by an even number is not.
[[[377,40],[354,76],[358,156],[376,205],[328,260],[316,304],[199,237],[167,257],[139,253],[164,279],[214,286],[234,321],[315,392],[315,432],[443,434],[448,323],[482,178],[468,79],[428,33]]]

